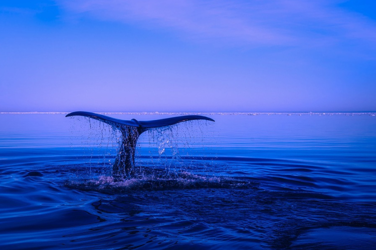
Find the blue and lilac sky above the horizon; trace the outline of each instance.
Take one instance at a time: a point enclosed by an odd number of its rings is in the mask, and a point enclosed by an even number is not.
[[[0,111],[376,111],[375,0],[0,0]]]

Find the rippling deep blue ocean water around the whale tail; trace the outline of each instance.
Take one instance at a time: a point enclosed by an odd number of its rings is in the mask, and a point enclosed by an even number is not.
[[[205,115],[143,133],[115,180],[109,125],[0,113],[0,248],[374,249],[374,113]]]

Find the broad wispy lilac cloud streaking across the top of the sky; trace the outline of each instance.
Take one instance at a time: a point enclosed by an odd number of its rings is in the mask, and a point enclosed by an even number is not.
[[[338,0],[58,0],[96,18],[170,29],[191,39],[249,45],[374,46],[376,22],[337,7]]]

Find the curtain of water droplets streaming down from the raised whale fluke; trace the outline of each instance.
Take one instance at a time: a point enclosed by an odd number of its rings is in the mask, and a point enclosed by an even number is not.
[[[203,139],[198,138],[203,135],[203,124],[201,122],[188,121],[179,125],[151,128],[140,135],[135,134],[138,131],[134,129],[120,131],[115,124],[105,124],[86,117],[85,120],[89,122],[90,129],[79,132],[82,132],[81,137],[85,140],[83,145],[90,145],[91,156],[87,166],[87,176],[98,176],[98,173],[100,173],[104,176],[112,175],[117,181],[124,179],[122,174],[125,174],[125,172],[121,172],[120,175],[114,174],[114,169],[117,170],[116,166],[119,165],[118,161],[123,159],[119,157],[119,154],[126,153],[125,149],[121,150],[122,147],[129,146],[127,144],[129,141],[124,137],[136,137],[137,139],[140,136],[138,141],[133,141],[137,143],[131,146],[134,148],[131,153],[134,153],[136,157],[130,159],[132,169],[129,172],[132,177],[128,175],[126,179],[153,177],[155,171],[150,171],[150,169],[154,168],[162,168],[164,177],[177,178],[179,173],[192,171],[195,168],[193,158],[190,161],[183,160],[181,155],[184,157],[190,156],[191,144],[195,144],[195,147],[197,147],[197,140],[203,141]],[[82,125],[81,128],[87,128],[87,125]],[[204,146],[200,150],[203,148]],[[145,166],[152,166],[152,168],[145,168]],[[93,167],[101,168],[101,170],[93,171]],[[111,167],[112,171],[110,170]],[[159,169],[157,171],[160,175]]]

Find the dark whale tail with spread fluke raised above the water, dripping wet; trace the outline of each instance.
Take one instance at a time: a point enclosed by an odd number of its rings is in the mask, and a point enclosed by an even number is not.
[[[134,154],[136,151],[137,140],[141,133],[152,128],[170,126],[179,122],[189,120],[215,121],[214,119],[203,115],[181,115],[157,120],[122,120],[87,111],[71,112],[68,113],[66,117],[76,115],[100,120],[111,125],[114,129],[121,131],[122,140],[119,143],[115,162],[112,165],[112,175],[116,178],[121,179],[131,177],[132,171],[134,169]]]

